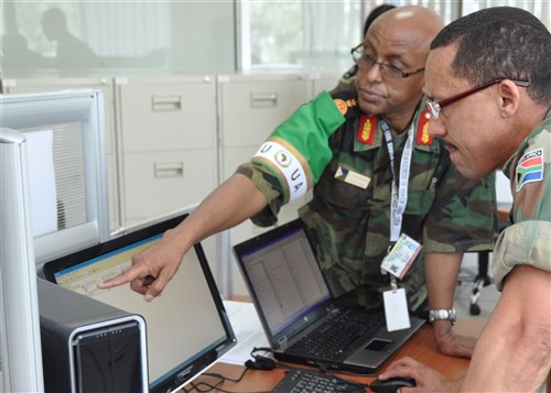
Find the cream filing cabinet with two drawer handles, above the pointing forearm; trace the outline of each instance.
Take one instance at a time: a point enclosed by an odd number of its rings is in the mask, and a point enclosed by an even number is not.
[[[122,225],[194,205],[217,184],[210,76],[116,77]]]

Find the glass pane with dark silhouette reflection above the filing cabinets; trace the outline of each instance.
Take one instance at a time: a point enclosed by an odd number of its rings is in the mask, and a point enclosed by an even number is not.
[[[2,1],[3,76],[235,69],[234,0]]]

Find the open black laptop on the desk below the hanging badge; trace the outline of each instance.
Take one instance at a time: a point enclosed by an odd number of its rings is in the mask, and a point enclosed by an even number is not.
[[[410,328],[388,331],[382,312],[336,306],[300,219],[234,245],[234,254],[278,360],[372,373],[424,324],[412,317]],[[337,342],[325,349],[327,339]]]

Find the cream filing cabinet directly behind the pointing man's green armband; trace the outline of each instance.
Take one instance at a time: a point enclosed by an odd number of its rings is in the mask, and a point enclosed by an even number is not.
[[[310,84],[306,75],[299,74],[218,76],[222,181],[247,162],[276,127],[311,99]],[[303,203],[284,206],[279,222],[295,218]],[[264,230],[247,220],[230,230],[229,241],[235,244]],[[233,293],[247,294],[236,263],[231,263],[230,275]]]

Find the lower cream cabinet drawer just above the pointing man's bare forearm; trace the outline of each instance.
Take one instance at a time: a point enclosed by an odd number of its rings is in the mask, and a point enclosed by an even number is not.
[[[196,204],[216,186],[216,151],[125,153],[126,221]]]

